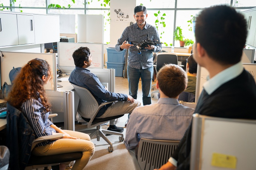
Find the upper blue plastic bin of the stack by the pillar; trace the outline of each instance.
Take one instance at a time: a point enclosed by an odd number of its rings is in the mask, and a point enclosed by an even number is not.
[[[116,51],[114,47],[108,47],[106,49],[107,49],[108,62],[110,63],[125,62],[126,49],[123,49],[123,51]]]

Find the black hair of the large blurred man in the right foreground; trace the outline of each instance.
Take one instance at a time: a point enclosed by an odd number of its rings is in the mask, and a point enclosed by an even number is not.
[[[241,60],[247,22],[235,8],[219,5],[200,12],[195,21],[195,40],[213,60],[236,64]]]

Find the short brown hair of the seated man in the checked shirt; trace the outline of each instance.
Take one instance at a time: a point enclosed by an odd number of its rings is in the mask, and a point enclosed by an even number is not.
[[[157,73],[160,90],[168,97],[177,97],[187,86],[186,72],[176,64],[167,64]]]

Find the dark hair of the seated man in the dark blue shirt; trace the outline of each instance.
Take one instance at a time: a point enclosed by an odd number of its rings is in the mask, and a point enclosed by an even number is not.
[[[76,67],[83,67],[84,61],[89,61],[91,52],[87,47],[80,47],[73,52],[72,57]]]

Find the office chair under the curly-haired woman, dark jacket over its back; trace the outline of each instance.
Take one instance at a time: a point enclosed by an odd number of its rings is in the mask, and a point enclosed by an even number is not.
[[[14,112],[11,112],[11,110],[14,110]],[[20,128],[20,124],[18,124],[18,122],[15,122],[15,119],[11,118],[14,115],[15,116],[18,115],[19,119],[21,119],[21,121],[24,124],[26,124],[26,131],[29,132],[29,133],[22,134],[22,135],[26,135],[26,139],[28,139],[29,136],[32,136],[31,139],[35,138],[34,131],[32,130],[31,125],[27,121],[26,116],[20,116],[21,114],[23,114],[23,113],[20,110],[16,109],[15,107],[13,107],[9,103],[7,103],[7,125],[6,125],[7,126],[6,127],[7,128],[7,141],[11,141],[11,140],[13,141],[14,140],[13,137],[9,133],[11,128],[17,128],[17,133],[22,131],[22,128]],[[9,116],[9,118],[8,118],[8,116]],[[50,114],[48,118],[50,119],[50,118],[55,117],[55,116],[57,116],[57,114]],[[20,129],[21,129],[21,131],[20,131]],[[37,138],[33,141],[32,140],[26,140],[27,145],[25,145],[25,148],[32,151],[38,143],[41,143],[45,140],[59,139],[63,136],[64,136],[64,134],[55,134],[55,135],[39,137],[39,138]],[[30,141],[32,141],[32,142],[30,142]],[[19,143],[19,142],[17,142],[17,143]],[[7,145],[8,145],[8,143],[7,143]],[[17,147],[18,147],[19,150],[24,150],[24,146],[19,145]],[[82,152],[71,152],[71,153],[48,155],[48,156],[35,156],[30,152],[30,155],[26,155],[26,157],[28,156],[29,159],[24,160],[23,159],[24,155],[20,155],[21,152],[18,155],[15,154],[16,153],[16,150],[15,150],[16,148],[15,147],[8,146],[8,148],[10,150],[9,168],[11,170],[16,169],[17,166],[19,166],[20,169],[25,169],[25,170],[37,169],[37,168],[40,168],[40,167],[44,167],[44,169],[47,169],[48,166],[55,166],[55,165],[58,165],[60,163],[71,162],[71,161],[78,160],[78,159],[82,158]],[[13,153],[13,152],[15,152],[15,153]],[[20,160],[21,157],[22,157],[22,162]]]

